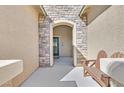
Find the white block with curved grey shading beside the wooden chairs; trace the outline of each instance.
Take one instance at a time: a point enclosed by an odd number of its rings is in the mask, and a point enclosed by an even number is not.
[[[111,86],[124,86],[124,58],[101,58],[100,69],[112,78]]]

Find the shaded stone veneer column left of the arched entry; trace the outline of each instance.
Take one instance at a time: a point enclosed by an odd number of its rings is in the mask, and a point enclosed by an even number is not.
[[[50,24],[51,19],[39,17],[39,57],[40,66],[50,66]]]

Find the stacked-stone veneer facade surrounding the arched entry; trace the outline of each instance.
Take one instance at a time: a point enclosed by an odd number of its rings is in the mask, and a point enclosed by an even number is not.
[[[50,23],[57,20],[68,20],[76,23],[76,44],[83,54],[87,55],[87,33],[85,23],[79,13],[83,6],[76,5],[44,5],[46,18],[39,18],[40,66],[50,65]]]

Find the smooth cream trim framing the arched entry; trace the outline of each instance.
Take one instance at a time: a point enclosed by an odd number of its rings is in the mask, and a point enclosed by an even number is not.
[[[57,20],[50,24],[50,65],[54,64],[53,62],[53,28],[60,25],[67,25],[72,27],[72,46],[73,46],[73,65],[77,65],[77,57],[76,57],[76,50],[74,46],[76,45],[76,24],[72,21],[68,20]]]

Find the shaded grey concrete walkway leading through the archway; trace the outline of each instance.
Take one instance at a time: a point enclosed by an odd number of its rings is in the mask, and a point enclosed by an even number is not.
[[[72,62],[69,57],[57,59],[53,67],[39,68],[21,87],[76,87],[74,81],[60,81],[73,69]]]

